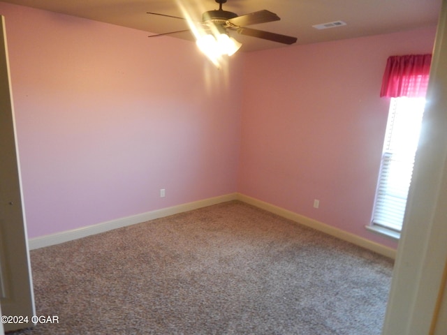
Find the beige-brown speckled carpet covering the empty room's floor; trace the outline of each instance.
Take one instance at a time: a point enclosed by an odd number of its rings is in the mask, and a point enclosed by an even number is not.
[[[241,202],[31,251],[12,334],[381,333],[393,262]]]

